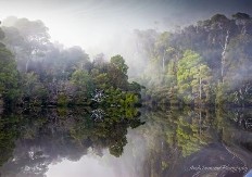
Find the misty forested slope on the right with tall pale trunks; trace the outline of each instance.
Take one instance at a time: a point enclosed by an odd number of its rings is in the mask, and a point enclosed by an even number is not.
[[[174,33],[136,30],[147,67],[139,81],[155,104],[252,104],[252,18],[216,14]]]

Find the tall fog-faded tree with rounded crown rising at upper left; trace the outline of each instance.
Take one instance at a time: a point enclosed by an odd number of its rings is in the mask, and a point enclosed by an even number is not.
[[[17,59],[23,65],[21,69],[27,73],[30,62],[43,58],[48,50],[47,43],[49,43],[50,39],[48,27],[46,27],[41,21],[29,21],[27,18],[17,17],[4,20],[3,26],[5,24],[7,26],[12,26],[12,28],[5,28],[8,35],[5,42],[8,46],[14,48]],[[17,31],[15,31],[14,28],[17,29]],[[13,33],[22,37],[22,40],[18,40],[21,42],[18,46],[13,46],[13,42],[15,43],[17,41],[12,39]],[[16,37],[18,37],[18,35],[16,35]]]

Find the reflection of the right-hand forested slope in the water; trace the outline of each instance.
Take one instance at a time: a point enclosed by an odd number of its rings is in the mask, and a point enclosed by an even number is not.
[[[252,134],[239,119],[251,113],[175,109],[148,114],[142,135],[150,151],[142,176],[243,176],[252,167]]]

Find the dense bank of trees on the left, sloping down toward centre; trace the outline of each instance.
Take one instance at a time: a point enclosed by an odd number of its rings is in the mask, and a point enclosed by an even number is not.
[[[52,43],[43,23],[27,18],[8,18],[0,37],[0,105],[140,103],[141,86],[128,83],[128,66],[121,55],[108,62],[100,54],[91,62],[79,47]]]

